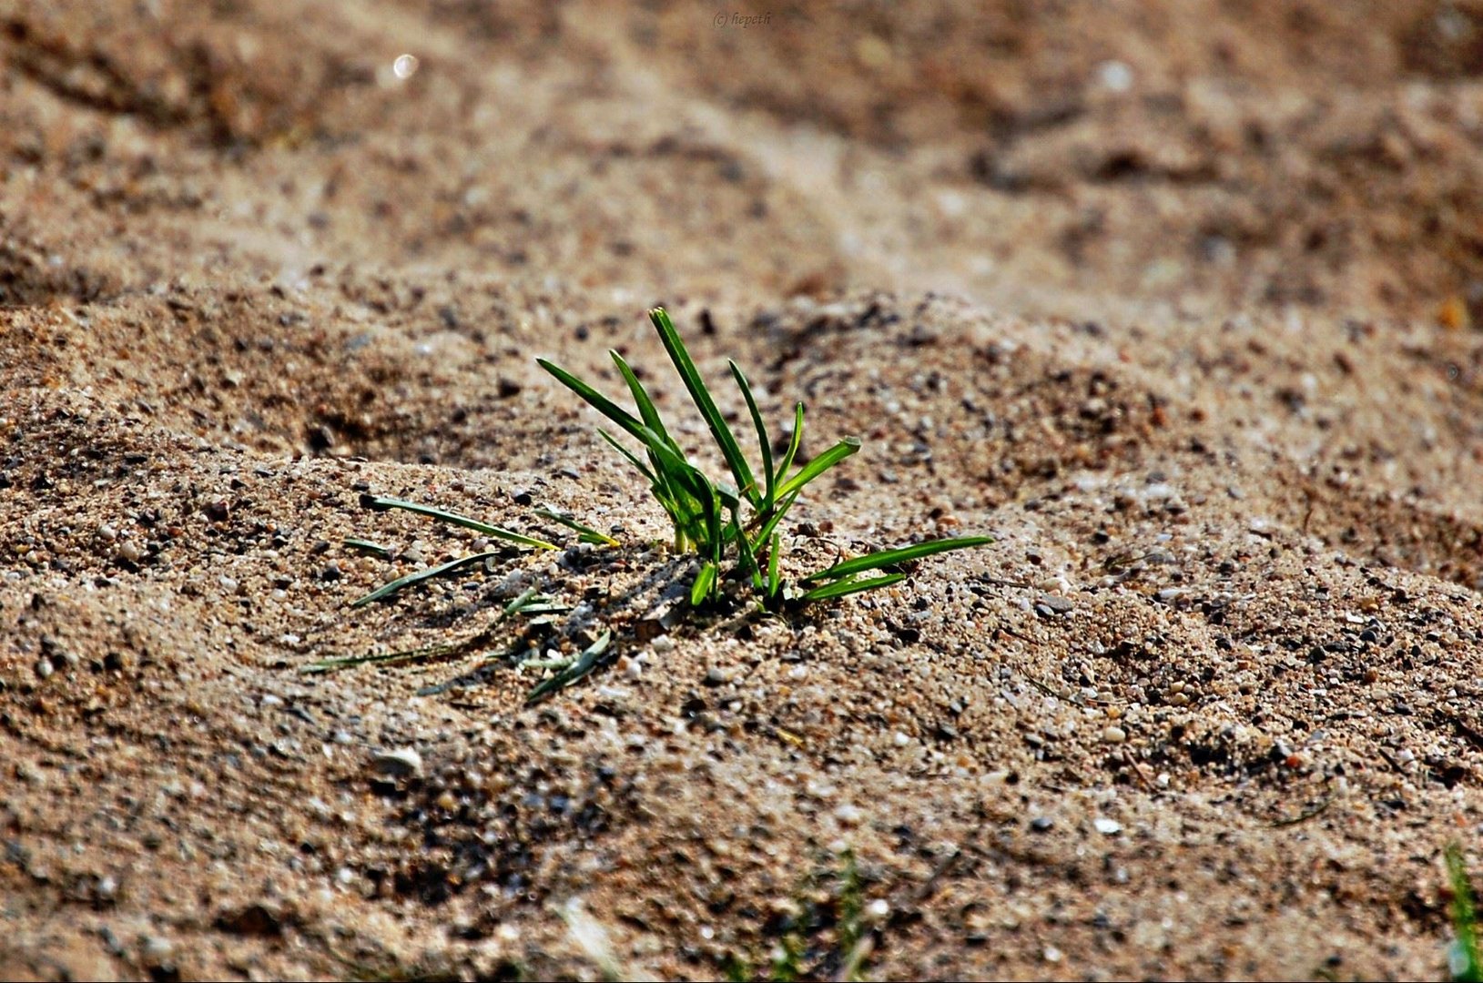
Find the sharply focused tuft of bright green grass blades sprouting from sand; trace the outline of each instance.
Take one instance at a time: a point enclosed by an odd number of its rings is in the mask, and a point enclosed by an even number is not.
[[[670,362],[679,372],[691,402],[710,430],[734,483],[713,480],[691,464],[684,449],[670,436],[644,384],[617,351],[608,354],[627,384],[638,411],[636,415],[567,369],[546,359],[537,359],[537,362],[556,381],[577,393],[642,446],[644,457],[641,458],[610,431],[598,430],[602,439],[612,445],[648,480],[654,500],[673,525],[675,550],[688,550],[700,557],[700,568],[690,589],[693,605],[700,606],[719,598],[724,581],[733,578],[750,581],[767,609],[777,609],[785,602],[802,605],[842,598],[862,590],[888,587],[905,580],[906,574],[900,571],[900,566],[911,560],[948,550],[983,546],[991,541],[989,537],[931,540],[844,560],[802,577],[798,584],[785,581],[779,563],[783,552],[782,535],[777,531],[779,523],[798,501],[804,488],[856,454],[860,449],[860,440],[845,437],[792,471],[804,437],[804,405],[796,403],[793,406],[793,433],[787,451],[782,461],[774,461],[773,440],[762,423],[752,385],[740,366],[730,362],[731,378],[742,391],[752,427],[756,431],[762,467],[761,473],[753,471],[669,314],[664,313],[664,308],[655,307],[650,311],[650,320],[658,331],[664,351],[669,353]]]

